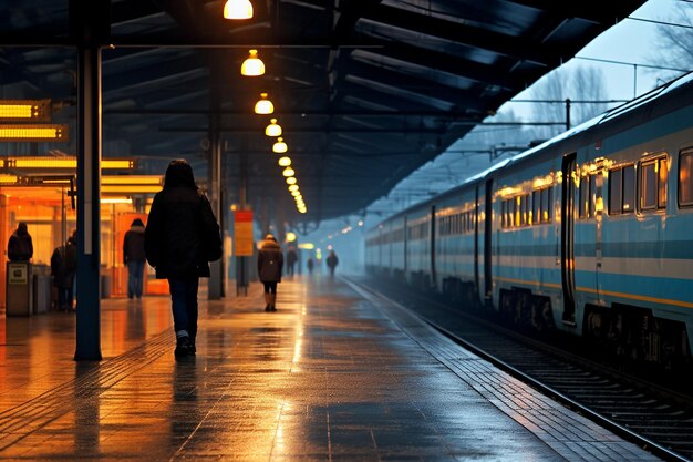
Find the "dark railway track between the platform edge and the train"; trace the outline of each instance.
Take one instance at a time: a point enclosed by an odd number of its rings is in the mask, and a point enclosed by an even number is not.
[[[400,286],[355,283],[397,301],[456,342],[624,439],[666,460],[693,460],[691,396],[498,327]]]

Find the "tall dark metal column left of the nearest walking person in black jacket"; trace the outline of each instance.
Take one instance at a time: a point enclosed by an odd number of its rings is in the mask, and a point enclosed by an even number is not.
[[[110,1],[70,1],[77,44],[77,276],[75,360],[101,360],[101,48]]]

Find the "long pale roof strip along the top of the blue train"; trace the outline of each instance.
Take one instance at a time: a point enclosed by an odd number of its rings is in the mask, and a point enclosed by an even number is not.
[[[454,186],[443,193],[436,194],[434,197],[427,198],[425,201],[422,201],[417,204],[412,205],[411,207],[407,207],[405,209],[402,209],[393,215],[391,215],[390,217],[382,219],[377,225],[375,225],[375,227],[381,226],[382,224],[390,222],[392,219],[395,219],[402,215],[408,214],[411,213],[411,211],[416,209],[416,208],[421,208],[421,207],[425,207],[428,206],[435,202],[441,201],[442,198],[445,198],[445,196],[448,195],[453,195],[453,194],[457,194],[461,189],[464,189],[466,187],[469,187],[473,184],[476,184],[478,182],[484,181],[485,178],[487,178],[488,176],[506,168],[508,165],[513,165],[513,164],[517,164],[520,161],[525,161],[534,155],[537,155],[538,153],[545,151],[546,148],[554,146],[558,143],[561,143],[566,140],[570,140],[573,136],[577,136],[581,133],[588,132],[590,130],[593,130],[594,127],[617,120],[617,119],[621,119],[622,116],[624,116],[625,114],[632,113],[633,111],[635,111],[639,107],[642,107],[645,104],[650,104],[661,97],[663,97],[664,95],[668,95],[683,86],[686,85],[691,85],[693,84],[693,72],[689,72],[686,74],[683,74],[681,76],[679,76],[678,79],[674,79],[670,82],[666,82],[647,93],[643,93],[642,95],[627,102],[623,103],[617,107],[610,109],[609,111],[606,111],[602,114],[599,114],[592,119],[590,119],[589,121],[586,121],[583,123],[581,123],[580,125],[577,125],[570,130],[567,130],[566,132],[554,136],[550,140],[545,141],[541,144],[538,144],[537,146],[532,146],[530,148],[528,148],[527,151],[523,151],[519,154],[516,154],[511,157],[505,158],[500,162],[495,163],[494,165],[492,165],[490,167],[486,168],[483,172],[479,172],[473,176],[469,176],[468,178],[466,178],[464,182],[462,182],[459,185]]]

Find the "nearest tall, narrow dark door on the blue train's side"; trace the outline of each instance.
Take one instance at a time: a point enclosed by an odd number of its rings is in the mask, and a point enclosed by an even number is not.
[[[560,271],[563,288],[562,321],[572,325],[575,325],[575,172],[576,153],[572,153],[565,156],[562,161],[563,187],[560,204]]]

